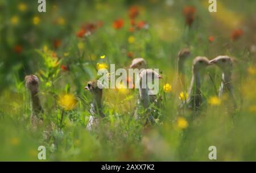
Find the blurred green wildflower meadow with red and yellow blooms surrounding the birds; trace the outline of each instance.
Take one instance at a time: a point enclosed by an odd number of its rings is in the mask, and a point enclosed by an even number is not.
[[[215,13],[208,6],[196,0],[47,1],[47,12],[39,13],[37,1],[0,0],[0,161],[39,161],[40,145],[46,161],[209,161],[209,146],[217,147],[217,161],[256,161],[256,1],[218,1]],[[185,62],[187,83],[196,56],[237,59],[232,114],[228,99],[217,98],[216,66],[202,73],[200,115],[191,120],[192,112],[178,113],[179,93],[163,87],[174,85],[182,48],[192,54]],[[163,77],[156,124],[145,129],[133,119],[137,90],[105,89],[106,117],[97,132],[88,132],[92,95],[86,83],[102,66],[128,69],[137,57]],[[40,79],[44,120],[36,130],[28,74]],[[65,94],[75,106],[61,106]]]

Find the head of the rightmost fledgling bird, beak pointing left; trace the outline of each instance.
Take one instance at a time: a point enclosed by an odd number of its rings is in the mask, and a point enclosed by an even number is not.
[[[210,60],[210,64],[217,65],[222,71],[230,71],[232,70],[233,60],[229,56],[217,56]]]

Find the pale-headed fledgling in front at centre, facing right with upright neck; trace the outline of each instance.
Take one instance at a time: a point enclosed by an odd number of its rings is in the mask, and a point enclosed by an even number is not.
[[[138,105],[137,109],[135,111],[135,119],[143,119],[146,120],[146,122],[155,123],[154,116],[154,110],[150,109],[151,101],[150,101],[150,95],[149,95],[149,88],[145,81],[148,81],[147,77],[151,77],[151,80],[154,81],[155,79],[161,79],[162,77],[154,70],[152,69],[145,69],[139,74],[139,99],[138,99]],[[146,80],[147,79],[147,80]],[[142,107],[143,111],[146,110],[144,115],[139,115],[139,108]]]

